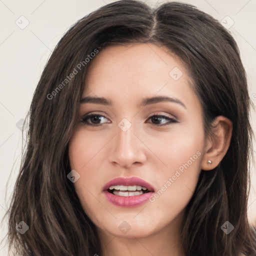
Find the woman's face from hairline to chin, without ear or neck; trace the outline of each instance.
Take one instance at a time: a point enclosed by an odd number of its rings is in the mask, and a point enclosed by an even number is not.
[[[166,48],[145,43],[108,46],[89,64],[81,99],[105,100],[81,101],[69,141],[84,211],[99,231],[115,236],[177,226],[205,147],[202,109],[185,66]]]

